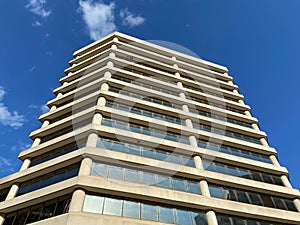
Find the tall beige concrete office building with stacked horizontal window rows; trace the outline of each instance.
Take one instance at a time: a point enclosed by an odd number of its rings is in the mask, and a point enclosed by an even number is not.
[[[0,180],[1,225],[300,224],[226,67],[118,32],[70,65]]]

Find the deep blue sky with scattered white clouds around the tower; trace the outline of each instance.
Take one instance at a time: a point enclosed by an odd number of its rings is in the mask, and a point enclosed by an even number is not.
[[[227,66],[299,189],[299,9],[299,0],[1,1],[0,177],[19,169],[72,53],[118,30]]]

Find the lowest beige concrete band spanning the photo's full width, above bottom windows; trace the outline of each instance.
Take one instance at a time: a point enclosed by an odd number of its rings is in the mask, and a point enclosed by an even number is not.
[[[290,211],[254,206],[233,201],[194,195],[174,190],[161,189],[153,186],[132,185],[131,183],[103,179],[101,177],[81,176],[72,178],[51,187],[42,188],[33,193],[0,203],[0,213],[15,211],[41,201],[70,193],[76,188],[88,192],[110,194],[139,200],[167,203],[178,207],[199,210],[211,210],[249,218],[259,217],[262,220],[280,223],[300,223],[300,214]]]

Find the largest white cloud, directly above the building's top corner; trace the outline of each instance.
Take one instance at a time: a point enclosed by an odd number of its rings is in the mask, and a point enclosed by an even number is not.
[[[92,40],[98,40],[117,29],[114,8],[113,2],[105,4],[102,1],[79,0],[78,11],[82,14]]]

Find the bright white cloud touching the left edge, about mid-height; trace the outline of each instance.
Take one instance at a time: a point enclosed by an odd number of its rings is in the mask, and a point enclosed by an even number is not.
[[[4,105],[3,98],[6,91],[0,86],[0,124],[19,128],[24,124],[24,116],[19,115],[16,111],[10,112]]]

